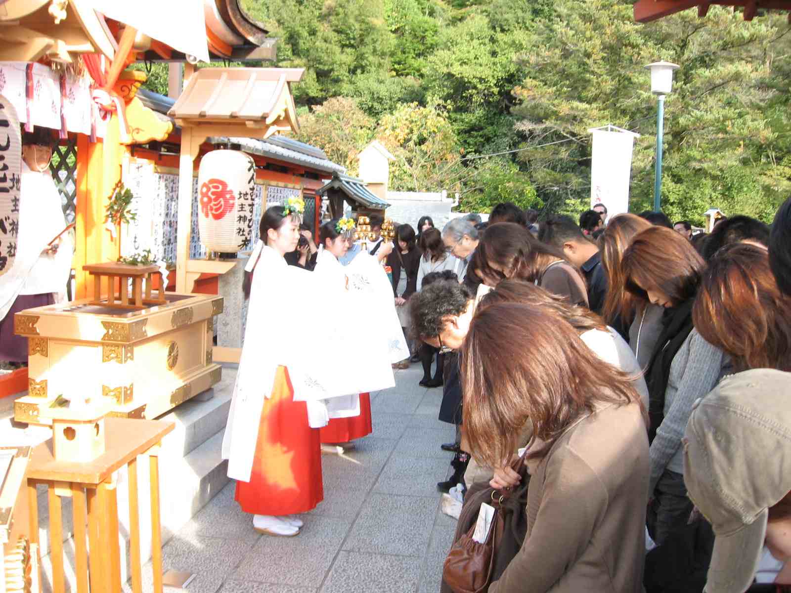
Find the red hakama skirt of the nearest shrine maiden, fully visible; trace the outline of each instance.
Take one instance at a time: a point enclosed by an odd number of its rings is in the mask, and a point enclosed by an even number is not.
[[[236,500],[252,515],[308,512],[324,500],[319,431],[310,428],[307,405],[293,401],[293,393],[286,367],[278,367],[261,410],[250,482],[237,482]]]

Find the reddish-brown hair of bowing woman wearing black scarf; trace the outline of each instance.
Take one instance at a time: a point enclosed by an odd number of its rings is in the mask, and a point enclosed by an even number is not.
[[[659,290],[673,304],[694,296],[705,269],[706,263],[690,242],[663,226],[638,232],[621,261],[627,290],[641,296],[645,290]]]

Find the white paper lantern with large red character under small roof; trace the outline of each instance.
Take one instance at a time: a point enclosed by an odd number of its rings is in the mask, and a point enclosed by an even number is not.
[[[236,253],[254,224],[255,162],[238,150],[206,153],[198,171],[198,229],[210,251]]]

